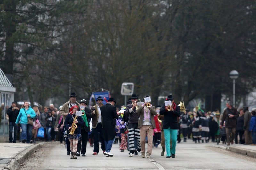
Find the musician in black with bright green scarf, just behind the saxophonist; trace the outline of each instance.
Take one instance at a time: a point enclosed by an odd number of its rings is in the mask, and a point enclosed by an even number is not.
[[[87,138],[88,138],[88,132],[90,132],[90,122],[89,119],[92,118],[91,115],[91,109],[89,107],[87,107],[87,101],[85,99],[80,101],[80,107],[84,106],[84,110],[79,108],[78,110],[84,112],[84,115],[82,115],[81,117],[83,118],[83,126],[81,127],[81,138],[78,141],[77,144],[77,151],[76,151],[76,156],[80,156],[80,151],[82,156],[85,156],[86,153],[86,148],[87,148]],[[81,145],[82,143],[82,145]],[[82,146],[82,148],[81,148]]]

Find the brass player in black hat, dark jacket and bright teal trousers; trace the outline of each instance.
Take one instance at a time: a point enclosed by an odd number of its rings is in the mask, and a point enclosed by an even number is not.
[[[172,102],[170,111],[167,110],[167,106],[163,105],[160,110],[160,115],[164,115],[163,129],[164,129],[164,138],[165,138],[165,147],[166,147],[166,158],[175,158],[176,151],[176,142],[177,142],[177,133],[178,133],[178,122],[177,117],[180,117],[180,107],[175,104],[174,98],[172,95],[167,97],[168,101]],[[170,152],[170,138],[172,140],[172,149]]]

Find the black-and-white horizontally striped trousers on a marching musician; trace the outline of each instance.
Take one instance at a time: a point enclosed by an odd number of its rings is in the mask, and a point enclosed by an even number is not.
[[[140,152],[141,147],[140,147],[140,129],[134,129],[130,128],[128,129],[128,136],[129,136],[129,154],[132,153],[134,154],[134,137],[137,139],[137,144],[138,144],[138,152]]]

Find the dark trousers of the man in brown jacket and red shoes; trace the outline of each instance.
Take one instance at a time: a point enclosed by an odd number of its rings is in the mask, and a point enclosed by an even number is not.
[[[102,151],[105,151],[105,142],[104,142],[104,134],[103,134],[103,128],[102,124],[98,123],[96,128],[92,128],[92,134],[93,134],[93,152],[99,153],[100,148],[99,148],[99,133],[100,133],[100,138],[101,138],[101,149]]]

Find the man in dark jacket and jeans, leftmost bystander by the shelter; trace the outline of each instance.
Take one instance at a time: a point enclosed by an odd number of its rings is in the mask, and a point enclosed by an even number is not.
[[[9,143],[16,143],[18,126],[15,123],[19,115],[19,108],[13,101],[12,106],[8,108],[7,115],[9,116]],[[14,129],[14,137],[12,138],[12,129]]]

